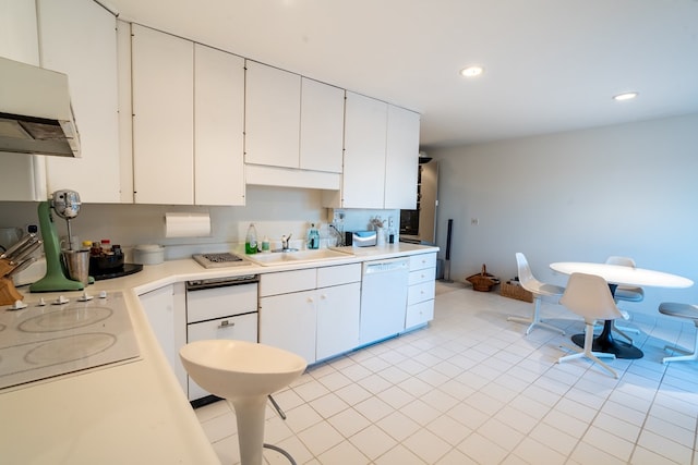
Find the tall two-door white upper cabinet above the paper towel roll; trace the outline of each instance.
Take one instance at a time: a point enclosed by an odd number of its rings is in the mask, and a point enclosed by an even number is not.
[[[136,204],[244,205],[244,59],[132,25]]]

